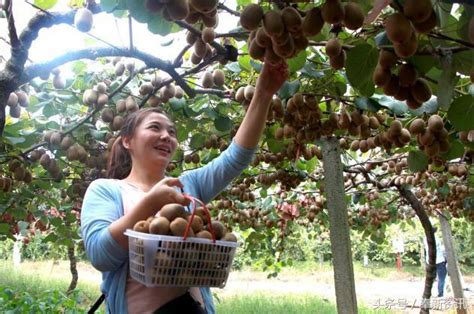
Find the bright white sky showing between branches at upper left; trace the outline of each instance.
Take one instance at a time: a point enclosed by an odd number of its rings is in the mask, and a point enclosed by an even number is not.
[[[30,2],[33,2],[31,0]],[[2,2],[0,0],[0,2]],[[58,4],[54,7],[55,11],[67,10],[67,0],[58,0]],[[224,3],[235,9],[235,0],[226,0]],[[17,33],[20,34],[28,23],[28,20],[37,12],[37,9],[29,5],[25,0],[13,1],[13,13]],[[218,33],[228,32],[237,26],[238,19],[228,13],[221,13],[219,25],[216,29]],[[94,16],[94,25],[90,31],[96,37],[99,37],[115,46],[128,46],[128,23],[127,19],[116,19],[111,14],[100,13]],[[158,58],[164,60],[173,60],[176,52],[185,45],[185,36],[183,33],[178,35],[172,34],[166,37],[151,34],[145,24],[133,22],[134,46]],[[162,43],[169,42],[175,38],[169,46],[162,46]],[[0,19],[0,55],[8,59],[10,55],[9,46],[5,42],[8,39],[8,29],[6,19]],[[4,40],[5,39],[5,40]],[[74,51],[91,46],[105,45],[95,41],[92,37],[85,33],[77,31],[69,25],[57,25],[49,29],[42,29],[38,39],[35,40],[30,49],[29,58],[33,62],[45,62],[55,56],[64,54],[66,51]],[[3,61],[3,60],[2,60]],[[4,61],[0,63],[3,68]]]

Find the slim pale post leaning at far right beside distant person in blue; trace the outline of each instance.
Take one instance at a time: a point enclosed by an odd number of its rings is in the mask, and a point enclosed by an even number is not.
[[[463,302],[460,308],[457,308],[458,314],[466,314],[467,300],[464,299],[464,293],[461,283],[461,272],[459,271],[458,258],[454,249],[453,235],[451,233],[451,226],[444,215],[439,215],[439,222],[441,225],[441,232],[443,233],[443,243],[446,250],[446,257],[448,260],[448,274],[453,286],[454,299]],[[462,301],[461,301],[462,300]]]

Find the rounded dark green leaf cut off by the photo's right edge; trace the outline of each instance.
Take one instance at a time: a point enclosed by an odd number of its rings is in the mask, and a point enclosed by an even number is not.
[[[464,95],[456,98],[449,107],[448,120],[458,131],[474,129],[474,97]]]

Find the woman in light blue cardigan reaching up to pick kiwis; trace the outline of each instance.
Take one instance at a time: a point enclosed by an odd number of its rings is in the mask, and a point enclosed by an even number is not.
[[[165,204],[212,200],[251,162],[273,95],[287,78],[286,64],[264,64],[255,93],[231,145],[206,166],[166,178],[177,147],[173,122],[159,109],[131,114],[115,142],[109,178],[91,183],[81,211],[81,231],[111,313],[214,313],[209,288],[147,288],[128,274],[126,229],[154,216]],[[201,307],[201,305],[204,306]],[[185,308],[182,308],[184,306]]]

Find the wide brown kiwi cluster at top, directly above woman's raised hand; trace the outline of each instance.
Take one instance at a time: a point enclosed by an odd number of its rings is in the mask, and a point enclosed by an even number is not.
[[[264,12],[258,4],[249,4],[240,15],[240,24],[251,32],[247,45],[249,55],[270,63],[290,59],[306,49],[308,38],[319,34],[325,22],[355,30],[362,26],[364,14],[354,2],[343,5],[339,0],[327,0],[321,7],[304,12],[292,6]],[[336,46],[340,49],[331,49]],[[331,66],[344,67],[346,53],[337,40],[328,48]]]

